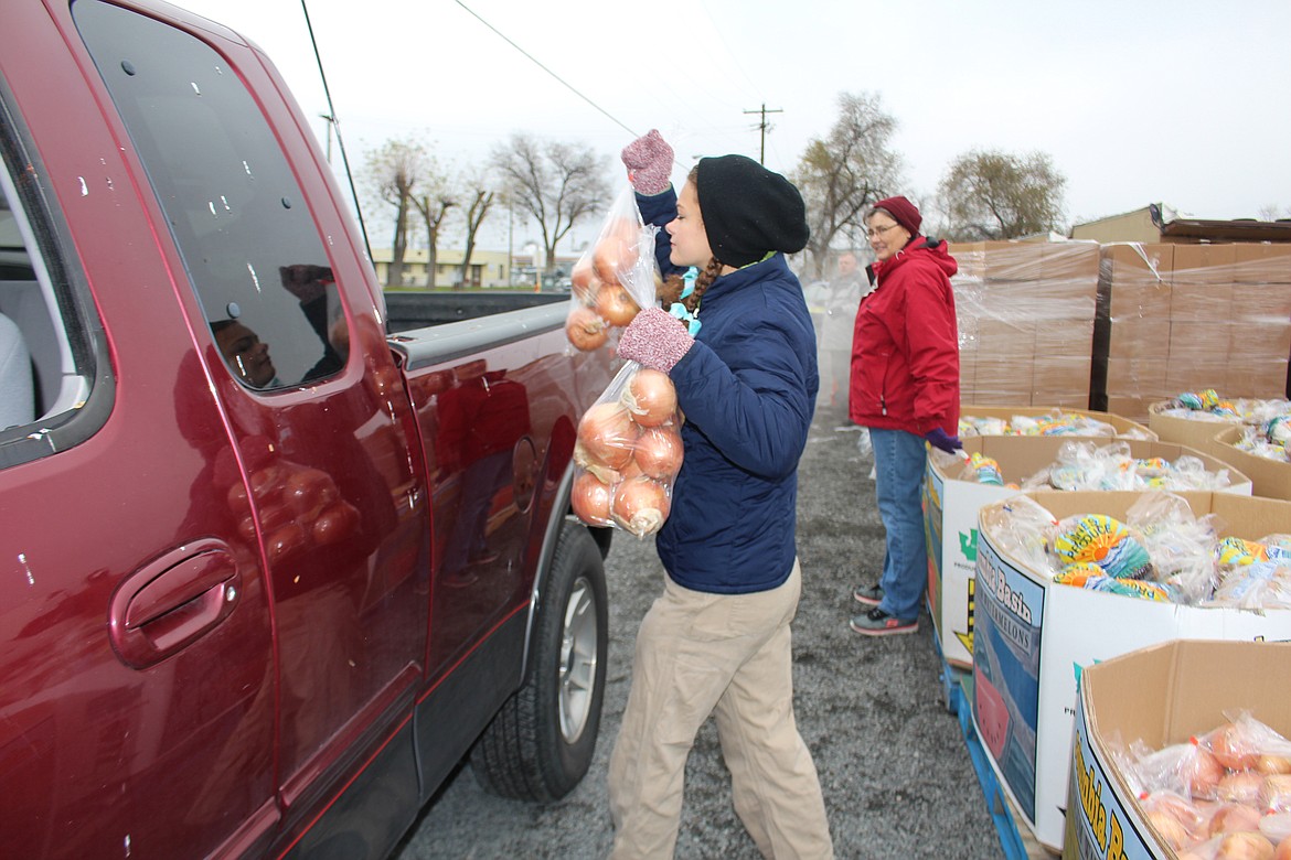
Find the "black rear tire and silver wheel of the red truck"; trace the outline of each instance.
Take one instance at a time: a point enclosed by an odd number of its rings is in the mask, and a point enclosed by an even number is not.
[[[471,749],[491,794],[555,801],[591,766],[605,694],[605,567],[586,526],[565,521],[538,598],[524,685]]]

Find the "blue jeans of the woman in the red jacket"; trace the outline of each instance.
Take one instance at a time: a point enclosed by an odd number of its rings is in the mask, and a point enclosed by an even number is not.
[[[928,545],[923,535],[923,474],[927,449],[923,437],[905,431],[870,428],[874,445],[875,495],[887,530],[883,558],[883,602],[888,615],[911,621],[919,618],[928,584]]]

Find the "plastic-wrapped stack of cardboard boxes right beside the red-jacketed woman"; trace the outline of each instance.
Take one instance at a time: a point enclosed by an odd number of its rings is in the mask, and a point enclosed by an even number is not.
[[[1095,242],[964,242],[951,280],[961,397],[1087,409],[1099,286]]]

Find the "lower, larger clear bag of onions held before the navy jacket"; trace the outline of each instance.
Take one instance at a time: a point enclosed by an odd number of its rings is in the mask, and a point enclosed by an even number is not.
[[[682,468],[682,420],[667,374],[629,361],[578,422],[573,512],[638,538],[667,520]]]

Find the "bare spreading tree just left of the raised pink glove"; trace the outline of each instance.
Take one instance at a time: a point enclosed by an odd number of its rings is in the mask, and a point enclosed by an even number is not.
[[[546,269],[555,268],[556,245],[580,219],[594,215],[609,196],[608,156],[576,143],[540,144],[513,134],[491,156],[511,199],[538,222]]]

